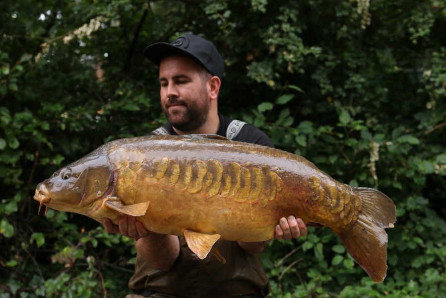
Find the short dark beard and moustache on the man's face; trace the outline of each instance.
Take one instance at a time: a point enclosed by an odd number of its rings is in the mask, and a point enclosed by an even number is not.
[[[180,98],[168,100],[166,105],[162,106],[167,121],[176,129],[189,132],[200,128],[207,120],[209,114],[210,103],[207,96],[203,93],[196,100],[186,102]],[[181,105],[184,108],[169,111],[170,105]]]

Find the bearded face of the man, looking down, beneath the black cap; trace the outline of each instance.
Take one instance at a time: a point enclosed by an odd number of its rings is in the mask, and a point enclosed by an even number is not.
[[[161,107],[169,123],[180,131],[196,130],[207,120],[210,100],[201,71],[197,62],[184,55],[161,61]]]

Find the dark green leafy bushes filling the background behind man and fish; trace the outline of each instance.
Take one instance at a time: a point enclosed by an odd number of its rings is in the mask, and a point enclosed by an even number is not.
[[[148,44],[212,40],[220,110],[335,179],[397,205],[373,283],[326,228],[273,241],[271,297],[444,297],[444,0],[2,0],[0,297],[124,297],[132,241],[38,215],[37,183],[104,142],[165,121]],[[216,291],[218,291],[216,289]]]

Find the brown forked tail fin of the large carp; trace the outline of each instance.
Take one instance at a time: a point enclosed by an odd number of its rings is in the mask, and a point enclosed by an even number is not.
[[[396,222],[396,207],[382,192],[366,187],[356,190],[361,195],[361,211],[350,229],[337,232],[353,259],[376,283],[387,272],[387,233],[384,228]]]

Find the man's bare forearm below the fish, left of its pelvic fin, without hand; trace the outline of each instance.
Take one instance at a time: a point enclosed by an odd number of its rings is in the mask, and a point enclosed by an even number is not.
[[[158,270],[169,270],[180,254],[180,240],[175,235],[151,233],[135,241],[136,250]]]

